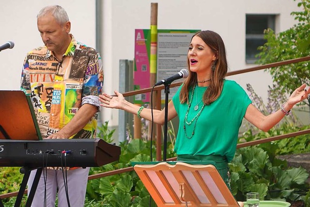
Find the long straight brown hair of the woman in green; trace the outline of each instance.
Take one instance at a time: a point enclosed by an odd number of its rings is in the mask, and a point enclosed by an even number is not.
[[[223,81],[227,73],[227,60],[226,60],[226,51],[225,45],[222,38],[213,31],[201,31],[193,35],[202,38],[203,42],[211,48],[212,52],[216,54],[217,59],[215,60],[216,69],[211,73],[211,80],[208,89],[204,92],[203,103],[211,104],[217,100],[218,96],[221,94],[223,89]],[[192,39],[193,39],[192,37]],[[189,70],[189,60],[187,58],[187,67]],[[181,103],[188,102],[188,94],[190,88],[193,88],[197,85],[197,73],[191,72],[189,70],[189,75],[184,82],[184,85],[180,92],[180,101]]]

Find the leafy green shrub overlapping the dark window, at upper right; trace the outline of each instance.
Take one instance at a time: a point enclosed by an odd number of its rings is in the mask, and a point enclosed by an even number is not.
[[[264,31],[264,39],[267,42],[258,48],[261,52],[258,54],[260,59],[257,63],[269,64],[309,56],[310,1],[301,0],[297,5],[302,7],[303,11],[291,13],[298,20],[298,23],[292,28],[278,34],[271,29]],[[309,62],[272,67],[268,71],[272,75],[273,81],[279,86],[279,90],[285,91],[287,94],[291,94],[302,83],[310,84]],[[303,104],[310,106],[310,98],[308,98],[308,103],[304,101]]]

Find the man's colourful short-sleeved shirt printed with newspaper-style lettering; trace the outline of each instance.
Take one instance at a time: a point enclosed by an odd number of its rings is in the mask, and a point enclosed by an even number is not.
[[[73,36],[62,61],[47,47],[39,47],[27,53],[23,64],[21,90],[31,96],[43,138],[62,129],[85,103],[97,106],[99,111],[102,85],[99,53]],[[95,138],[97,116],[70,138]]]

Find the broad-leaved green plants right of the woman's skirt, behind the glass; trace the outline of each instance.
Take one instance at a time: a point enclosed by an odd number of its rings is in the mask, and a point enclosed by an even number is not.
[[[305,169],[289,169],[286,161],[257,146],[238,149],[229,167],[237,200],[246,200],[247,192],[259,192],[261,200],[295,201],[305,195],[301,190],[309,190]]]

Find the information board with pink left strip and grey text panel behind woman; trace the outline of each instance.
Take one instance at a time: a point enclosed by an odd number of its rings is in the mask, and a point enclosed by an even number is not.
[[[191,37],[200,30],[157,30],[157,73],[158,80],[165,79],[183,68],[187,68],[187,51]],[[135,30],[134,90],[150,88],[151,30]],[[183,81],[182,79],[176,81]],[[175,81],[175,82],[176,82]],[[178,87],[170,89],[170,99]],[[150,93],[135,96],[136,104],[150,102]],[[165,100],[162,90],[162,100]]]

